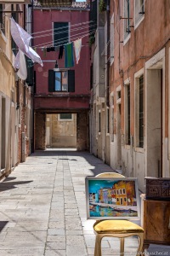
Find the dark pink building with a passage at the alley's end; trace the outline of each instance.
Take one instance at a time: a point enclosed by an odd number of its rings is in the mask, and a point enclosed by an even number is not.
[[[88,109],[90,96],[89,8],[87,3],[71,7],[34,7],[33,45],[43,67],[34,69],[35,148],[45,148],[46,114],[77,114],[77,149],[88,148]],[[65,69],[67,43],[82,38],[80,60]],[[65,49],[65,47],[64,47]],[[74,48],[73,48],[74,52]],[[54,69],[58,63],[59,69]]]

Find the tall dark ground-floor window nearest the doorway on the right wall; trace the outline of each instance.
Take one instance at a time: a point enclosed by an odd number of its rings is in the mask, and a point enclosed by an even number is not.
[[[139,148],[144,147],[144,76],[139,78]]]

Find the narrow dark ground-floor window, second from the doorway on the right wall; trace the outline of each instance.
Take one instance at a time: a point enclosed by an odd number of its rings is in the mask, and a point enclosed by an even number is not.
[[[130,84],[125,87],[125,143],[130,145]]]

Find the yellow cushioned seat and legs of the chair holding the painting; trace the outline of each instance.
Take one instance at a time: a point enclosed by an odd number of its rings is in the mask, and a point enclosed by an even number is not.
[[[124,255],[124,238],[128,236],[139,237],[139,247],[136,255],[142,255],[144,243],[144,230],[133,222],[122,219],[99,220],[94,223],[96,235],[94,256],[101,256],[101,240],[104,236],[118,237],[121,240],[120,255]]]

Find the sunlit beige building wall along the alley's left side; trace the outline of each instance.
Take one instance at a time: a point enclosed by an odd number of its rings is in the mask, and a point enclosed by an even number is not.
[[[14,9],[15,7],[14,5]],[[3,5],[3,9],[10,11],[11,4]],[[24,6],[20,5],[20,9],[24,9]],[[15,73],[10,12],[8,15],[4,12],[3,16],[5,29],[0,31],[0,178],[8,176],[14,166],[31,154],[32,143],[31,88]],[[24,24],[24,13],[19,15],[19,20],[20,24]],[[26,134],[24,148],[22,132]]]

